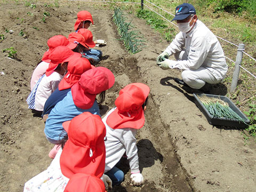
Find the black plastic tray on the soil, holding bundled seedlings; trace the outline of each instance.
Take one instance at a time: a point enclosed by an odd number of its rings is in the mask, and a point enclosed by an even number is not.
[[[195,103],[197,105],[197,107],[202,111],[202,113],[204,114],[204,116],[206,117],[207,121],[211,124],[211,125],[222,125],[222,126],[233,126],[233,127],[247,127],[248,125],[244,124],[243,122],[239,122],[236,119],[227,119],[227,118],[213,118],[213,116],[209,113],[209,111],[204,107],[203,103],[200,101],[200,97],[202,95],[205,95],[206,97],[210,97],[210,98],[218,98],[221,99],[225,102],[228,103],[228,106],[233,109],[237,115],[239,115],[240,117],[242,117],[245,121],[245,123],[249,124],[250,121],[249,119],[242,113],[241,110],[239,110],[236,105],[227,97],[222,96],[222,95],[213,95],[213,94],[195,94],[194,93],[194,97],[195,97]]]

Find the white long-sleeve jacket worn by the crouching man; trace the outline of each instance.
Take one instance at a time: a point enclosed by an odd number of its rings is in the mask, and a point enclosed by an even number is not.
[[[228,66],[217,37],[204,23],[197,20],[189,33],[178,33],[165,52],[169,55],[185,49],[188,59],[177,61],[177,68],[196,70],[199,67],[209,69],[215,78],[225,77]]]

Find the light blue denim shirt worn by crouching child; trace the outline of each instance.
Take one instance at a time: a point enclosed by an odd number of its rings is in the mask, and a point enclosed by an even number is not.
[[[71,91],[69,91],[66,97],[58,102],[57,105],[55,105],[55,107],[51,110],[44,128],[46,137],[56,141],[61,140],[63,137],[60,137],[60,134],[62,131],[65,131],[62,123],[69,121],[75,116],[80,115],[86,111],[100,116],[98,102],[95,100],[93,106],[90,109],[81,109],[75,106]]]

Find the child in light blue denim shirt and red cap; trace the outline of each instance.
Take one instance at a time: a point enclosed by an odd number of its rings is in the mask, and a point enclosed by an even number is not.
[[[77,83],[71,87],[65,98],[51,110],[45,123],[44,133],[51,143],[59,144],[64,131],[62,123],[88,111],[100,115],[97,94],[103,93],[101,102],[105,99],[105,91],[115,83],[113,73],[105,67],[97,67],[85,71]]]

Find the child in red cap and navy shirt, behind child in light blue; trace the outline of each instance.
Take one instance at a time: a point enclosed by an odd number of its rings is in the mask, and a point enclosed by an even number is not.
[[[43,110],[43,119],[46,121],[47,116],[50,114],[53,107],[66,97],[67,93],[71,90],[73,86],[80,79],[81,75],[92,66],[88,59],[85,58],[75,58],[68,62],[68,72],[62,78],[59,83],[58,88],[50,95],[46,100]]]

